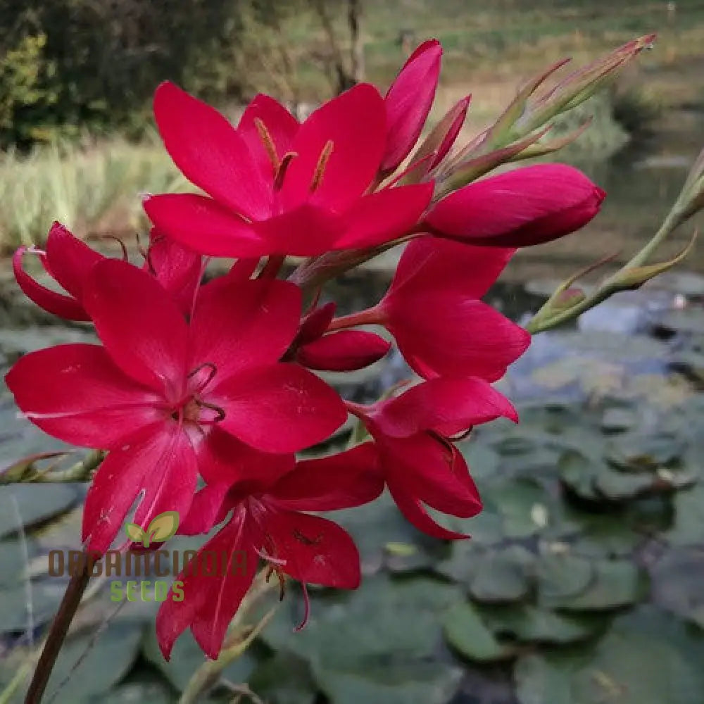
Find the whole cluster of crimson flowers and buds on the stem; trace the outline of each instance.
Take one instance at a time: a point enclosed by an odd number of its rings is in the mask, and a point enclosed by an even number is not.
[[[604,194],[564,165],[448,190],[469,99],[414,151],[440,60],[439,44],[426,42],[385,96],[360,84],[302,123],[260,95],[233,127],[162,84],[158,129],[201,192],[144,199],[153,223],[144,262],[106,258],[58,223],[44,250],[15,254],[25,294],[92,322],[101,341],[28,354],[6,377],[44,432],[107,451],[87,494],[86,549],[104,553],[136,505],[130,520],[142,528],[177,511],[182,534],[220,526],[203,550],[246,555],[246,574],[180,575],[184,600],[165,601],[157,618],[167,658],[188,627],[218,656],[259,562],[303,586],[356,588],[356,547],[320,511],[362,505],[386,488],[418,529],[460,539],[428,507],[458,517],[482,508],[455,441],[498,417],[517,420],[491,384],[529,345],[482,297],[513,248],[577,230]],[[336,317],[334,302],[319,303],[319,279],[311,287],[279,277],[287,256],[352,250],[362,260],[399,241],[408,244],[393,282],[368,310]],[[24,270],[27,253],[65,294]],[[213,257],[235,261],[206,277]],[[389,332],[418,378],[365,406],[313,370],[359,370],[385,356],[387,337],[353,329],[370,324]],[[365,440],[297,456],[350,415]]]

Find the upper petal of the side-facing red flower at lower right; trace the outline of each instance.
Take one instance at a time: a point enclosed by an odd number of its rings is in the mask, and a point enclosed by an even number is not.
[[[425,430],[455,434],[499,417],[518,420],[508,398],[484,379],[471,377],[439,377],[417,384],[377,404],[370,417],[384,435],[396,438]]]

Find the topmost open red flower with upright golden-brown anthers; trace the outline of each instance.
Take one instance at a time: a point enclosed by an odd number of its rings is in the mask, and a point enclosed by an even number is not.
[[[235,130],[223,115],[172,83],[154,115],[166,149],[210,196],[163,194],[144,202],[159,230],[215,256],[313,256],[406,234],[432,184],[370,194],[386,144],[384,101],[359,84],[298,125],[258,96]]]

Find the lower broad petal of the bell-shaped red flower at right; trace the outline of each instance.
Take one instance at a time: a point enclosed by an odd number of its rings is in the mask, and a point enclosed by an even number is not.
[[[421,376],[496,381],[530,344],[530,335],[482,301],[451,292],[389,298],[386,327]]]

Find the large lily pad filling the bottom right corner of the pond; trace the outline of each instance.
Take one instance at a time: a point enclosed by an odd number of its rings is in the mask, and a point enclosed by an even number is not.
[[[704,691],[703,641],[662,613],[618,619],[596,648],[517,661],[520,704],[691,704]]]

